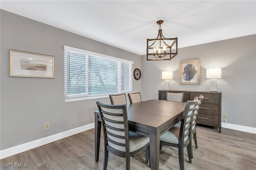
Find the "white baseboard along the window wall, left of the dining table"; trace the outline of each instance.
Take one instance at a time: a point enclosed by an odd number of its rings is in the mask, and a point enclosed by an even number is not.
[[[45,138],[41,138],[41,139],[34,140],[34,141],[31,141],[31,142],[27,142],[27,143],[24,143],[24,144],[20,144],[18,146],[13,146],[11,148],[0,150],[0,159],[7,158],[9,156],[12,156],[12,155],[15,155],[15,154],[18,154],[18,153],[21,153],[21,152],[25,152],[27,150],[36,148],[38,146],[42,146],[44,144],[54,142],[56,140],[66,138],[68,136],[72,136],[74,134],[78,134],[80,132],[90,130],[92,128],[94,128],[94,123],[89,124],[89,125],[85,125],[85,126],[82,126],[82,127],[74,128],[74,129],[71,129],[71,130],[67,130],[65,132],[54,134],[52,136],[47,136]]]

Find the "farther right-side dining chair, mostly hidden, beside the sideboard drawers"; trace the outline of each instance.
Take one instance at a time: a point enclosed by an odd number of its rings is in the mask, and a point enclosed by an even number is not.
[[[198,114],[199,105],[201,104],[202,99],[204,99],[204,96],[200,95],[199,97],[195,97],[195,98],[198,99],[198,102],[195,105],[194,115],[192,117],[192,122],[191,122],[191,132],[190,132],[190,136],[191,136],[190,137],[191,158],[193,158],[192,135],[193,135],[193,138],[194,138],[196,148],[198,148],[197,140],[196,140],[196,118],[197,118],[197,114]]]

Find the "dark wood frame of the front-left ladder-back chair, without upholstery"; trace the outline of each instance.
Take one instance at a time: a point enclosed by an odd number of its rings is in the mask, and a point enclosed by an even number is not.
[[[96,102],[99,112],[100,112],[100,117],[101,117],[101,121],[102,121],[102,127],[103,127],[103,135],[104,135],[104,165],[103,165],[103,169],[106,170],[107,169],[107,165],[108,165],[108,152],[116,155],[116,156],[120,156],[123,158],[126,158],[126,170],[130,170],[130,156],[133,156],[134,154],[140,152],[142,149],[147,150],[147,152],[149,151],[149,143],[146,144],[144,147],[139,148],[138,150],[135,150],[133,152],[130,152],[130,140],[129,140],[129,124],[128,124],[128,117],[127,117],[127,109],[126,109],[126,105],[106,105],[103,103],[100,103],[99,101]],[[122,109],[123,113],[122,114],[116,114],[116,113],[109,113],[106,111],[103,111],[101,109],[101,107],[105,107],[108,109]],[[109,120],[106,117],[103,116],[103,113],[106,115],[113,115],[113,116],[120,116],[120,117],[124,117],[124,121],[114,121],[114,120]],[[105,120],[112,122],[112,123],[118,123],[118,124],[124,124],[124,129],[122,128],[114,128],[114,127],[110,127],[108,125],[105,124]],[[106,127],[110,128],[110,129],[114,129],[114,130],[118,130],[118,131],[124,131],[125,136],[119,136],[116,134],[112,134],[110,132],[108,132],[106,130]],[[111,140],[110,138],[107,137],[107,134],[114,136],[116,138],[121,138],[121,139],[125,139],[125,144],[122,144],[120,142],[116,142]],[[125,152],[120,151],[120,150],[116,150],[115,148],[112,148],[111,146],[108,145],[108,141],[111,141],[112,143],[118,145],[118,146],[124,146],[125,147]],[[148,152],[149,153],[149,152]],[[146,158],[149,158],[149,154],[146,153]]]

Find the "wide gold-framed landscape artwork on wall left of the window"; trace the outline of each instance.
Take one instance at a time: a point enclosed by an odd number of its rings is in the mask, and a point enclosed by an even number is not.
[[[10,49],[10,77],[54,78],[54,56]]]

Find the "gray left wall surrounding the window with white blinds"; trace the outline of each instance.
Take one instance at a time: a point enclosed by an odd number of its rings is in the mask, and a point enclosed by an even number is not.
[[[96,101],[110,104],[108,98],[64,103],[63,45],[134,61],[141,69],[140,55],[4,10],[0,17],[0,150],[94,123]],[[55,78],[9,77],[9,49],[54,55]],[[133,91],[141,91],[141,80],[134,79]]]

